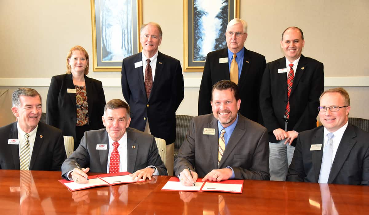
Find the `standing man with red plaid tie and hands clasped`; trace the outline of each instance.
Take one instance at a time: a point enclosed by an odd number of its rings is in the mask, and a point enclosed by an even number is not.
[[[280,43],[285,57],[266,65],[260,92],[263,125],[269,132],[270,180],[276,181],[286,180],[297,134],[316,127],[316,107],[324,89],[323,64],[301,54],[305,43],[301,29],[287,28]],[[293,82],[288,98],[289,74]]]

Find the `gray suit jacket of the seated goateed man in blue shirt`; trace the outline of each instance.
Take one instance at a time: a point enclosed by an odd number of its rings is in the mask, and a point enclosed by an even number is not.
[[[175,160],[175,175],[190,167],[203,178],[213,169],[230,166],[235,179],[269,180],[269,143],[265,127],[238,113],[238,123],[218,166],[218,121],[213,114],[194,117]],[[215,129],[214,135],[203,134]]]

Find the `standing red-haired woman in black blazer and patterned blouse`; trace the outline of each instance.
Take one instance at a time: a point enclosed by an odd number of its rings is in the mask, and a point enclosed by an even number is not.
[[[67,55],[67,72],[51,78],[46,99],[46,123],[72,136],[74,150],[83,133],[103,128],[105,95],[101,81],[88,78],[89,54],[79,45]]]

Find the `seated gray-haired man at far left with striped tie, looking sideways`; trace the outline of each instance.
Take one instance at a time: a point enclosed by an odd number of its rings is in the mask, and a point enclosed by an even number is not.
[[[66,158],[64,139],[60,129],[39,122],[41,95],[31,88],[18,88],[12,101],[17,122],[0,128],[0,169],[60,171]],[[28,157],[23,165],[20,157]]]

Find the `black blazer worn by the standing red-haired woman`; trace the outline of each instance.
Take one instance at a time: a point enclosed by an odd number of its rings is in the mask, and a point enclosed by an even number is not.
[[[104,115],[105,95],[101,81],[85,75],[87,102],[89,104],[89,124],[91,130],[104,127],[101,116]],[[64,136],[73,136],[76,140],[76,94],[67,89],[75,89],[72,74],[56,75],[51,78],[46,98],[46,123],[63,131]]]

